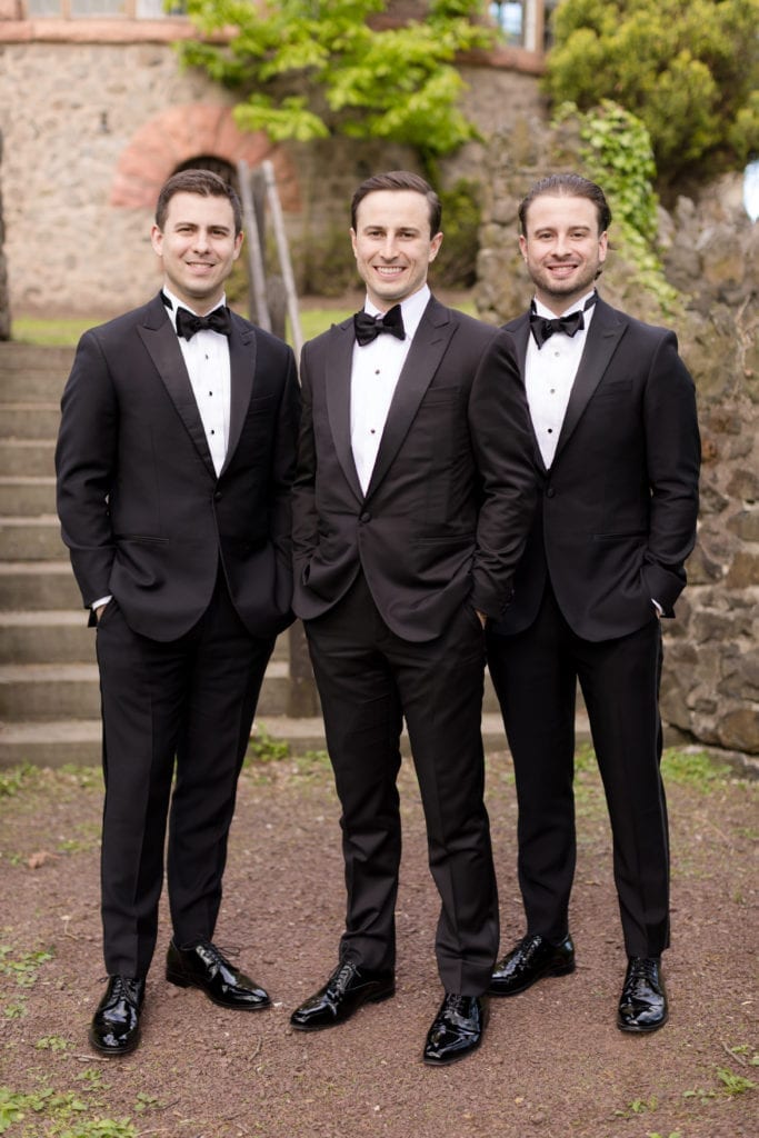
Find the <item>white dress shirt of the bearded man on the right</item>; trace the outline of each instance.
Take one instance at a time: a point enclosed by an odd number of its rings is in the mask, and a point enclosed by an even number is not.
[[[581,312],[588,297],[593,296],[593,291],[592,289],[587,296],[584,296],[567,312],[562,312],[561,315],[568,316],[578,310]],[[567,336],[566,332],[554,332],[542,348],[538,348],[533,332],[529,333],[525,358],[525,387],[535,436],[546,468],[550,468],[553,462],[594,308],[595,305],[592,305],[587,310],[584,314],[585,327],[580,328],[574,336]],[[538,316],[546,316],[548,320],[555,319],[555,312],[551,312],[537,299],[535,300],[535,310]]]

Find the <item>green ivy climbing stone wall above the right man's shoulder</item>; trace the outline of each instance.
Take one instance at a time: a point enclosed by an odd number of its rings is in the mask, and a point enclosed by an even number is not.
[[[578,112],[574,102],[562,104],[554,125],[569,118],[579,123],[583,173],[603,187],[611,207],[613,247],[635,265],[634,282],[655,296],[663,312],[673,314],[678,294],[668,283],[654,247],[659,199],[646,126],[610,99],[586,113]]]

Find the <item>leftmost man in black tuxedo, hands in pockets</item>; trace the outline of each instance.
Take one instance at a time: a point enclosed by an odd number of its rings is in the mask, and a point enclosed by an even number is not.
[[[223,1007],[270,1004],[212,938],[258,692],[292,619],[299,390],[290,348],[224,305],[239,199],[208,171],[175,174],[151,240],[163,291],[82,337],[56,453],[63,536],[97,625],[109,979],[90,1041],[106,1055],[139,1041],[167,815],[167,980]]]

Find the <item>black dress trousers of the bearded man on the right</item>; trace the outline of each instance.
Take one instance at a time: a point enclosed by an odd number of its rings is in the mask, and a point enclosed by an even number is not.
[[[652,615],[628,636],[586,641],[571,630],[548,585],[530,628],[489,634],[487,652],[514,764],[528,933],[558,943],[568,931],[579,681],[611,820],[625,947],[629,956],[659,956],[669,943],[659,621]]]

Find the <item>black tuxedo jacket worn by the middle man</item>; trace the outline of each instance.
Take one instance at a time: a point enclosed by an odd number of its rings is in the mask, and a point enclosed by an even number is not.
[[[440,635],[468,601],[500,617],[536,500],[511,337],[430,298],[365,495],[350,447],[353,347],[347,320],[303,349],[296,613],[329,610],[361,568],[404,640]]]

